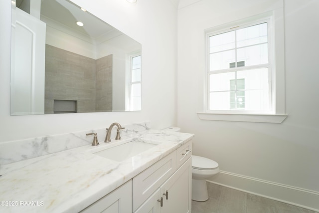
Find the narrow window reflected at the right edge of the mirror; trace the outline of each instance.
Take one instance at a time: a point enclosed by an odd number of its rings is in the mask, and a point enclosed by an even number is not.
[[[130,81],[128,86],[128,105],[129,111],[138,111],[141,106],[141,54],[130,56]]]

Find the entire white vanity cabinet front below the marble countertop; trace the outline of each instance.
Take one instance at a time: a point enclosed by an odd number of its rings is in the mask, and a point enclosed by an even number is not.
[[[190,213],[191,141],[81,213]]]

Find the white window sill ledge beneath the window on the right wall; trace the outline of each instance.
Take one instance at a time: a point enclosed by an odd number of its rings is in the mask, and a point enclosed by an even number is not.
[[[197,113],[201,120],[282,123],[288,115]]]

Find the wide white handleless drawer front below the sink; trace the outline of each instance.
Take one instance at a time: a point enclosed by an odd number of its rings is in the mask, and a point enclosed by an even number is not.
[[[133,178],[135,212],[176,170],[176,151]]]

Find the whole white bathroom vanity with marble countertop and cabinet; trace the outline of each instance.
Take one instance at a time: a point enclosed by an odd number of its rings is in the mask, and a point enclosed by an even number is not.
[[[191,212],[192,134],[128,128],[121,140],[111,138],[1,165],[0,210]]]

